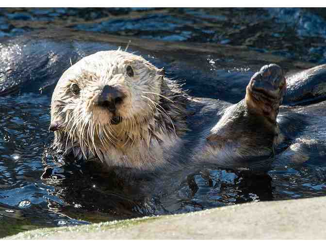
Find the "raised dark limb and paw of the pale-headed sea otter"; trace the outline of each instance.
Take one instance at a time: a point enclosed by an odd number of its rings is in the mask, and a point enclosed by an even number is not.
[[[276,117],[285,89],[277,64],[265,65],[251,77],[244,100],[228,107],[206,138],[217,160],[275,154],[281,140]]]

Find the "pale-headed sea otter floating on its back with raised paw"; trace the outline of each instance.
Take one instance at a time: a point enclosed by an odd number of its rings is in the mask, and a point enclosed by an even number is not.
[[[100,51],[67,69],[52,95],[55,149],[106,167],[220,166],[274,154],[282,69],[265,65],[237,104],[190,97],[141,56]]]

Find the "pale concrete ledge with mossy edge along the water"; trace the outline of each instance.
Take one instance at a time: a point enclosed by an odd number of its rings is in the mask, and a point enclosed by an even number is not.
[[[326,239],[326,197],[38,229],[5,239]]]

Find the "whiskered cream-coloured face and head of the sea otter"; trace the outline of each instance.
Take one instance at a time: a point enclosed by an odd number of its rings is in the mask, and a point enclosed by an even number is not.
[[[87,156],[144,139],[163,84],[162,69],[128,52],[101,51],[81,59],[52,95],[54,145],[65,151],[79,147]]]

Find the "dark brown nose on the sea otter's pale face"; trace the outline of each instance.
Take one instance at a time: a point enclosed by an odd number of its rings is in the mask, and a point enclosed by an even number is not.
[[[98,97],[98,105],[114,112],[124,97],[125,95],[117,87],[105,85]]]

